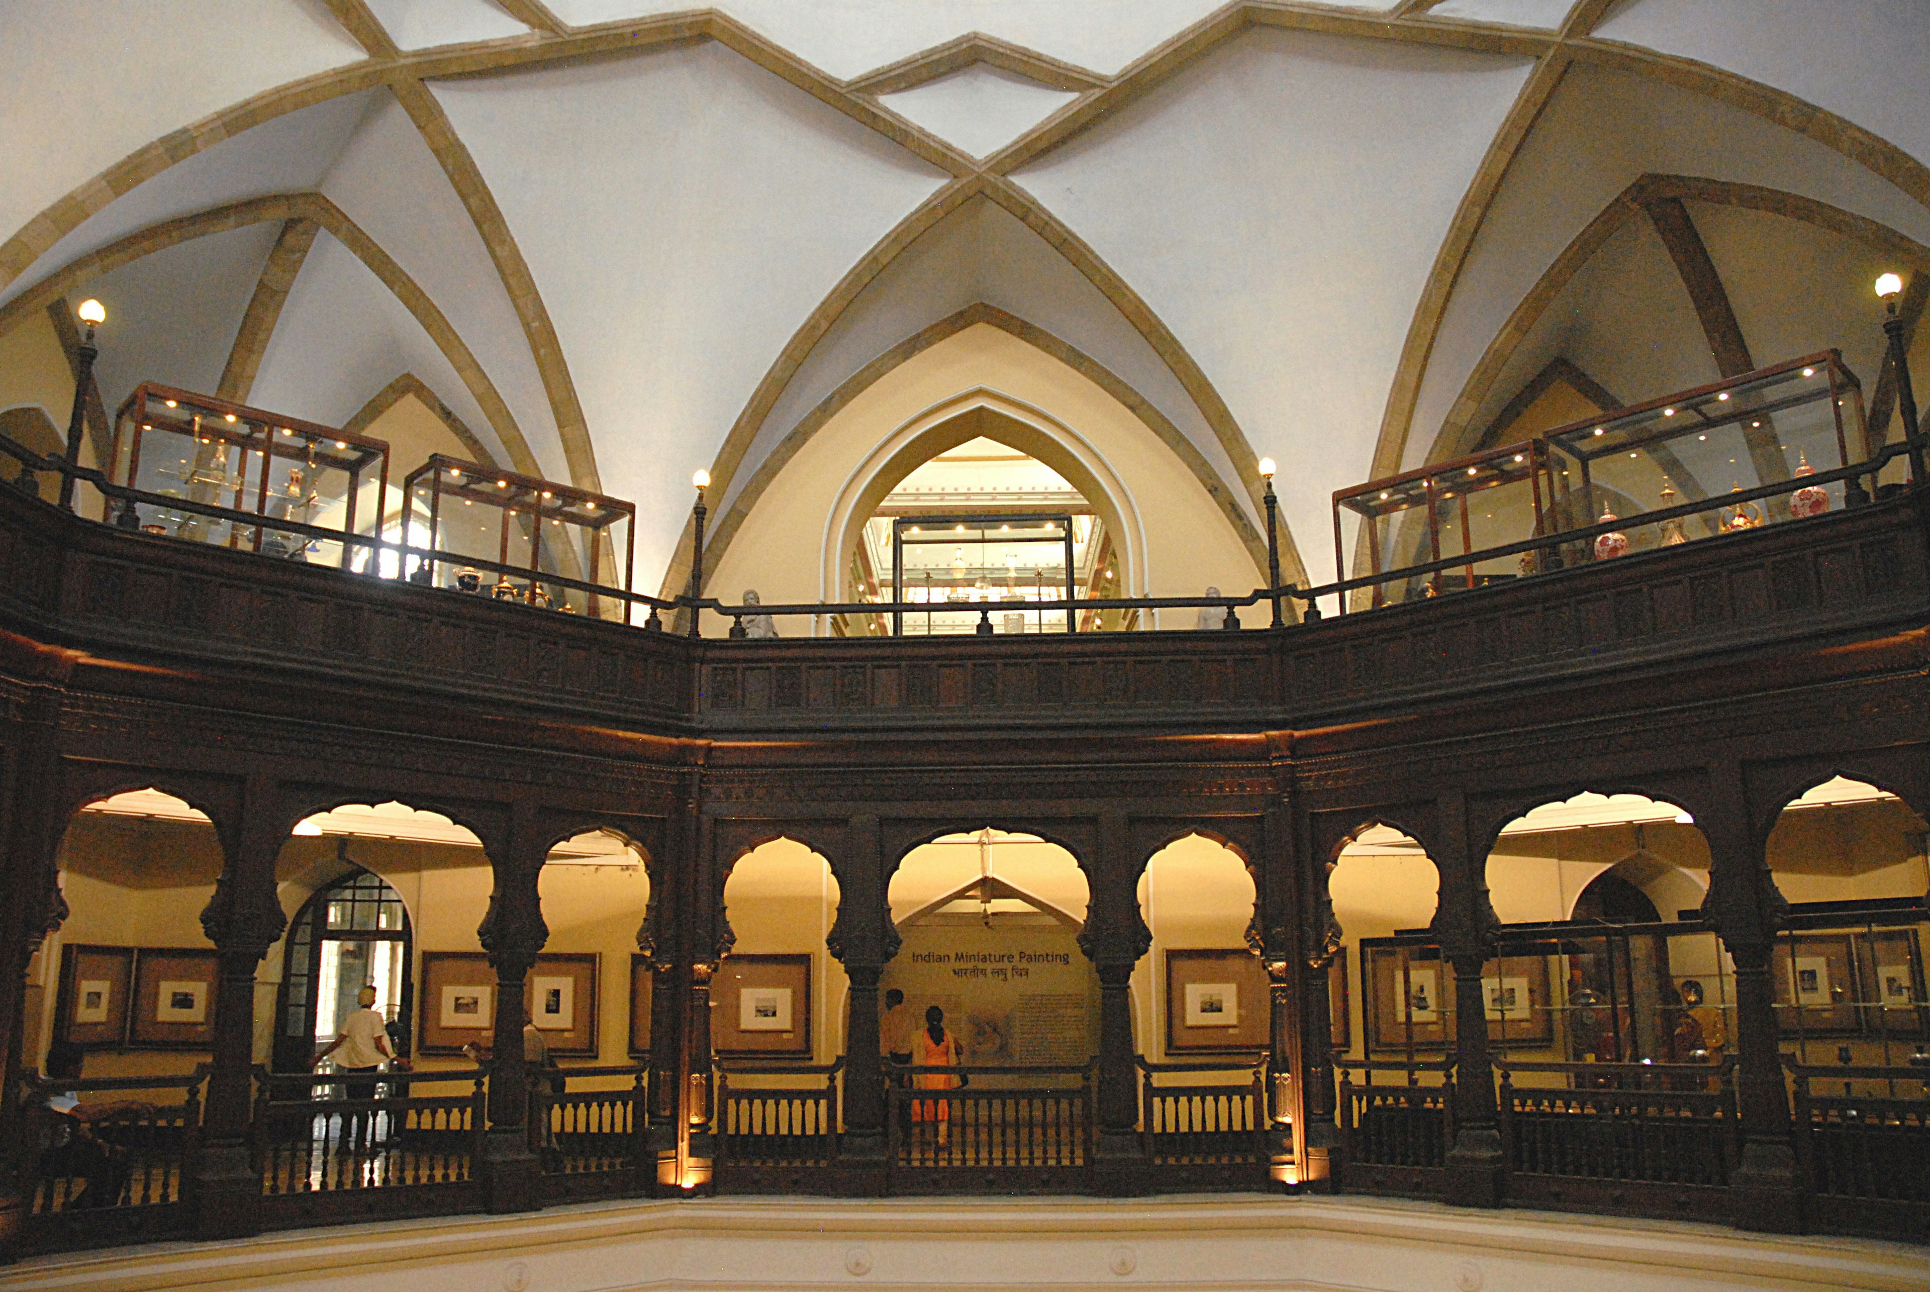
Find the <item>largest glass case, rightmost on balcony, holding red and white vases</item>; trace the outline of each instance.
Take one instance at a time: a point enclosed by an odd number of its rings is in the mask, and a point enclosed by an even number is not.
[[[1824,351],[1552,430],[1550,532],[1795,482],[1866,457],[1862,388]],[[1693,517],[1629,525],[1573,544],[1586,561],[1733,534],[1843,507],[1845,484],[1803,486]]]

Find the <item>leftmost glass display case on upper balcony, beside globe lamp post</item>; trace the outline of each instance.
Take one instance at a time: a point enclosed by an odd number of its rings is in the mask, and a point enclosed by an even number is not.
[[[344,534],[372,528],[388,492],[388,444],[334,426],[143,382],[114,418],[108,478],[185,501],[299,521]],[[129,515],[131,513],[131,515]],[[320,565],[367,567],[369,552],[156,503],[127,503],[124,526]]]

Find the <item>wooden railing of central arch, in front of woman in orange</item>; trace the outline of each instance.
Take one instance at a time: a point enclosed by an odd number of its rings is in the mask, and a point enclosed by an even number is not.
[[[1092,1159],[1092,1082],[1083,1066],[894,1068],[911,1086],[890,1088],[888,1163],[894,1188],[982,1190],[1006,1174],[1033,1182],[1083,1178]],[[919,1078],[963,1078],[919,1088]],[[988,1174],[990,1172],[990,1174]],[[951,1176],[951,1182],[919,1176]]]

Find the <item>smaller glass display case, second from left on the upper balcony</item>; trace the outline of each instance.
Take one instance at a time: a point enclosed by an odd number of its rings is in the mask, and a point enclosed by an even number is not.
[[[629,592],[637,507],[554,480],[432,453],[403,480],[409,579],[500,602],[625,619],[623,598],[571,588],[558,577]],[[479,565],[506,569],[481,569]],[[621,582],[614,582],[616,579]]]

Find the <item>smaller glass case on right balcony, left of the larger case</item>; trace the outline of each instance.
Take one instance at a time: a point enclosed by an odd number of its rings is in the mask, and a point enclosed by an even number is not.
[[[1366,575],[1401,571],[1444,557],[1500,548],[1544,532],[1542,496],[1546,455],[1540,442],[1509,444],[1420,467],[1386,480],[1372,480],[1334,494],[1334,561],[1347,569],[1343,515],[1359,517],[1357,542],[1366,548]],[[1432,575],[1376,582],[1365,598],[1370,606],[1405,602],[1476,588],[1498,579],[1534,573],[1532,553]]]

